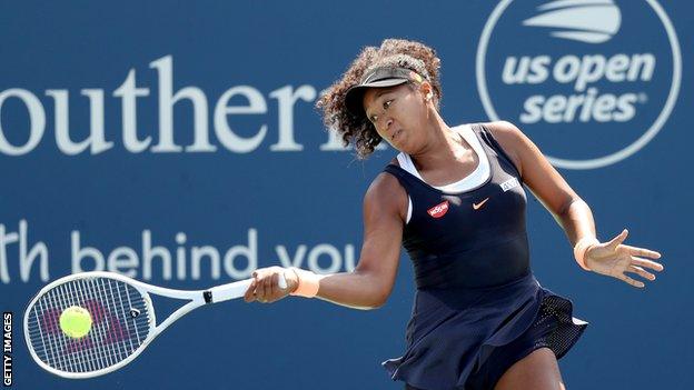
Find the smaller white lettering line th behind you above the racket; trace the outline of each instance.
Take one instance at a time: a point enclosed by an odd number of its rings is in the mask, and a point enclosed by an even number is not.
[[[19,264],[20,280],[23,282],[30,281],[34,266],[39,268],[41,281],[50,280],[48,246],[42,241],[37,241],[31,243],[31,249],[29,249],[28,232],[29,224],[23,219],[19,221],[19,229],[16,232],[8,231],[4,224],[0,224],[0,282],[3,284],[10,284],[13,281],[12,263]],[[140,246],[119,246],[110,251],[86,243],[79,230],[73,230],[69,236],[71,269],[59,271],[61,276],[66,272],[106,270],[143,280],[225,280],[229,278],[240,280],[250,278],[259,267],[258,230],[252,228],[248,229],[245,243],[231,246],[226,250],[209,244],[187,246],[188,239],[184,232],[176,234],[177,247],[169,248],[166,244],[156,243],[160,242],[161,238],[155,237],[149,229],[142,230]],[[16,252],[9,251],[13,244],[18,247]],[[356,267],[355,246],[351,243],[344,244],[344,250],[340,250],[343,247],[333,243],[324,242],[314,247],[299,243],[296,244],[293,253],[286,244],[277,244],[274,248],[279,264],[282,267],[300,267],[316,273],[351,272]],[[9,256],[14,253],[16,256]],[[262,267],[267,266],[270,263],[262,264]],[[33,274],[37,273],[33,272]]]

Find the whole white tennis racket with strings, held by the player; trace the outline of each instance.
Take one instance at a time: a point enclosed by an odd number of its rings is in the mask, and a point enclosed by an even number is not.
[[[186,291],[147,284],[113,272],[71,274],[46,286],[31,300],[24,311],[24,340],[33,360],[49,372],[73,379],[98,377],[131,362],[159,333],[192,309],[242,297],[251,281]],[[279,287],[287,288],[281,276]],[[150,294],[189,302],[157,323]],[[63,331],[61,314],[68,308],[89,313],[91,326],[86,334],[76,338]]]

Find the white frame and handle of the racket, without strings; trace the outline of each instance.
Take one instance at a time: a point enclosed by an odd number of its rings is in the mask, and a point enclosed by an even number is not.
[[[39,300],[39,298],[43,297],[43,294],[46,294],[46,292],[48,292],[52,288],[60,286],[62,283],[72,281],[72,280],[85,279],[85,278],[113,279],[113,280],[128,283],[132,286],[135,289],[137,289],[142,294],[143,301],[146,302],[148,310],[149,310],[149,316],[150,316],[149,333],[147,334],[147,338],[142,341],[142,343],[132,352],[132,354],[130,354],[128,358],[119,361],[118,363],[113,366],[107,367],[101,370],[91,371],[91,372],[66,372],[66,371],[54,369],[48,366],[47,363],[44,363],[41,359],[39,359],[36,351],[31,347],[31,341],[30,341],[31,339],[30,339],[29,326],[28,326],[29,312],[31,310],[29,309],[33,308],[33,304],[36,303],[36,301]],[[192,309],[197,309],[208,303],[218,303],[218,302],[224,302],[230,299],[244,297],[244,294],[250,287],[251,281],[252,279],[246,279],[246,280],[240,280],[240,281],[236,281],[232,283],[216,286],[206,290],[175,290],[175,289],[168,289],[165,287],[148,284],[148,283],[141,282],[139,280],[135,280],[132,278],[128,278],[126,276],[122,276],[116,272],[92,271],[92,272],[80,272],[80,273],[70,274],[70,276],[57,279],[52,281],[51,283],[47,284],[46,287],[43,287],[41,291],[39,291],[39,293],[37,293],[37,296],[33,297],[31,302],[29,302],[29,304],[27,306],[27,310],[24,310],[24,323],[23,323],[24,341],[27,343],[27,347],[29,348],[29,352],[31,353],[31,357],[33,358],[33,360],[41,368],[43,368],[44,370],[53,374],[57,374],[63,378],[70,378],[70,379],[85,379],[85,378],[99,377],[105,373],[116,371],[119,368],[135,360],[135,358],[137,358],[140,353],[142,353],[145,348],[147,348],[147,346],[157,336],[159,336],[159,333],[161,333],[176,320],[178,320],[179,318],[190,312]],[[287,281],[284,274],[281,273],[280,273],[280,279],[279,279],[279,287],[281,289],[287,288]],[[157,324],[157,316],[155,312],[155,307],[152,304],[150,293],[153,293],[160,297],[168,297],[168,298],[175,298],[175,299],[180,299],[180,300],[189,300],[190,302],[178,308],[176,311],[171,313],[171,316],[169,316],[166,320],[163,320],[163,322],[161,322],[160,324]],[[207,299],[206,299],[206,296],[207,296]]]

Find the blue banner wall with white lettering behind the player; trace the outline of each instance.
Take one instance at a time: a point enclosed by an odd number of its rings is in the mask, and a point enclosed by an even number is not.
[[[692,388],[694,7],[615,0],[547,16],[547,2],[0,4],[0,308],[14,314],[13,387],[401,388],[379,363],[404,350],[405,256],[379,310],[206,307],[85,381],[34,364],[21,318],[41,286],[100,267],[180,289],[295,260],[354,267],[363,193],[395,151],[356,160],[313,106],[363,46],[403,37],[437,49],[449,124],[517,123],[592,207],[599,238],[628,228],[628,243],[664,253],[645,290],[586,273],[529,200],[533,269],[591,322],[561,361],[567,387]],[[572,34],[583,14],[591,23]],[[191,261],[204,246],[218,260]]]

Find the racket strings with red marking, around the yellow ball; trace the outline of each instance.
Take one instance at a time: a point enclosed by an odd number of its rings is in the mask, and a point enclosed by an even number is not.
[[[89,311],[89,333],[73,339],[60,329],[63,310]],[[59,284],[30,308],[28,332],[38,358],[65,372],[93,372],[131,356],[147,339],[149,304],[133,287],[108,278],[76,279]]]

